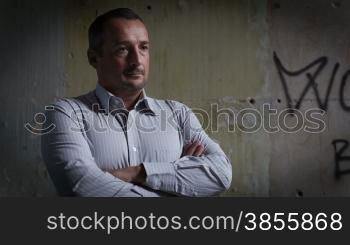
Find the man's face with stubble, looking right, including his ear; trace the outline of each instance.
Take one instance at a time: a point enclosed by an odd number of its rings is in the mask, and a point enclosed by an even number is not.
[[[101,54],[96,56],[99,81],[107,89],[142,89],[149,72],[149,39],[139,20],[110,19],[105,24]]]

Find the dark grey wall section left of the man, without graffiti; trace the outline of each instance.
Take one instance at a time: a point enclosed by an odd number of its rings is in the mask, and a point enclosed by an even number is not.
[[[29,134],[24,125],[33,124],[45,104],[65,94],[61,5],[0,3],[0,196],[54,194],[41,158],[40,137]]]

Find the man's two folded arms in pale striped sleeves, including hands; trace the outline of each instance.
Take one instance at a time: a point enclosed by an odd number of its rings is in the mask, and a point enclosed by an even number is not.
[[[230,187],[231,163],[202,129],[190,132],[191,125],[184,122],[184,134],[197,143],[189,145],[175,162],[144,162],[136,167],[107,172],[97,166],[83,134],[69,130],[78,126],[71,115],[66,103],[56,103],[55,110],[46,112],[45,122],[55,124],[56,128],[42,136],[43,158],[61,195],[214,196]],[[195,124],[192,126],[200,126],[193,113],[188,117],[191,119],[188,122]]]

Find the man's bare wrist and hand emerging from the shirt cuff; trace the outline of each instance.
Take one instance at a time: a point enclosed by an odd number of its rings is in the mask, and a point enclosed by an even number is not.
[[[142,164],[128,168],[121,168],[110,173],[118,179],[138,185],[142,185],[146,180],[146,171]]]

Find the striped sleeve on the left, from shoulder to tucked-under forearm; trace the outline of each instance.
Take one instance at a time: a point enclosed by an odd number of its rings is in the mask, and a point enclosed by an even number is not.
[[[44,128],[54,126],[41,137],[44,162],[56,190],[63,196],[139,197],[159,196],[140,186],[122,181],[96,164],[84,137],[81,123],[69,102],[60,100],[45,113]]]

